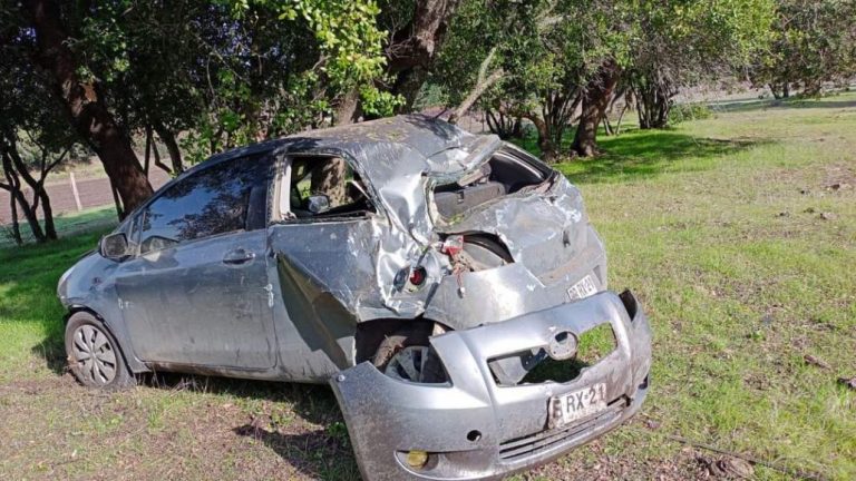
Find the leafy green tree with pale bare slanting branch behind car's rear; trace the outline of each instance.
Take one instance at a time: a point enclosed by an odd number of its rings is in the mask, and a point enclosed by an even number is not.
[[[596,128],[601,121],[605,107],[597,108],[604,104],[597,95],[609,97],[614,88],[604,76],[620,72],[616,59],[626,50],[624,10],[622,2],[465,2],[453,21],[437,75],[449,101],[459,105],[453,117],[478,97],[490,112],[529,120],[542,156],[560,157],[582,102],[588,107],[583,109],[586,125]],[[471,87],[460,95],[460,85]],[[588,141],[593,137],[581,137],[574,146]]]

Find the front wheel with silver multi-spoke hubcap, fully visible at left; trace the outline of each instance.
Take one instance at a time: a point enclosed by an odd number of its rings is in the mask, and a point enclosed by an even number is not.
[[[135,384],[119,344],[101,321],[77,312],[66,324],[68,367],[87,387],[116,390]]]

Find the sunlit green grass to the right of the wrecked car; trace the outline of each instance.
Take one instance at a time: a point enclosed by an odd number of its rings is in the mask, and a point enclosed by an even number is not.
[[[836,383],[856,375],[854,99],[636,130],[558,165],[604,237],[612,287],[633,288],[653,324],[644,418],[659,428],[607,438],[622,459],[681,458],[674,434],[856,478],[856,393]]]

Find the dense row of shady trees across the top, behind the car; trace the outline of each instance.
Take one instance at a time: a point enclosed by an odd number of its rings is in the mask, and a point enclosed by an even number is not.
[[[428,91],[451,121],[476,109],[506,137],[533,125],[548,160],[588,156],[619,101],[660,128],[703,81],[750,76],[777,96],[848,81],[855,14],[854,0],[1,0],[0,122],[4,145],[35,136],[46,158],[91,149],[126,209],[153,165],[176,175]]]

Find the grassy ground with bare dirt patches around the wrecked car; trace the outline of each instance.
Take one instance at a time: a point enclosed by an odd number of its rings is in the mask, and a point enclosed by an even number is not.
[[[749,102],[604,138],[604,156],[558,166],[604,237],[611,287],[632,287],[651,318],[652,387],[632,422],[515,479],[671,480],[736,464],[685,441],[775,465],[755,465],[761,480],[856,478],[856,391],[837,382],[856,376],[854,132],[856,95]],[[357,477],[323,386],[78,386],[54,292],[99,234],[0,251],[6,478]]]

